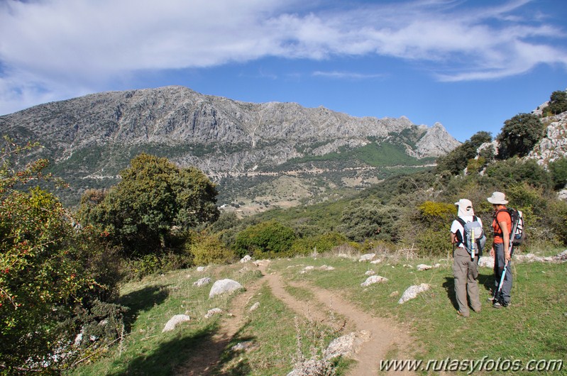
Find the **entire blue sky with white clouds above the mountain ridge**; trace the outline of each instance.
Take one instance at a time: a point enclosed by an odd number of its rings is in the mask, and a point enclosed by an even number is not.
[[[500,132],[567,89],[558,0],[0,0],[0,114],[182,85]]]

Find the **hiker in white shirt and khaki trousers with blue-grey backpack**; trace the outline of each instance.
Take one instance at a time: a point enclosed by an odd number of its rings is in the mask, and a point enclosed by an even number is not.
[[[470,308],[480,312],[480,298],[478,297],[478,257],[482,249],[476,244],[470,247],[470,233],[466,231],[473,223],[477,235],[483,234],[483,222],[475,216],[473,203],[468,199],[460,199],[457,206],[458,218],[451,223],[451,243],[453,250],[453,277],[455,277],[455,297],[458,305],[458,314],[463,317],[470,316],[467,293],[470,299]]]

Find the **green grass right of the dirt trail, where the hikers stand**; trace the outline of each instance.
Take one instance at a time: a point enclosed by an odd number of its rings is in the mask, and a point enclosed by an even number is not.
[[[419,263],[441,262],[442,267],[418,272]],[[297,260],[294,260],[297,262]],[[493,309],[486,299],[492,287],[492,270],[480,268],[480,297],[483,311],[471,312],[468,319],[456,314],[453,275],[447,260],[400,260],[378,265],[318,258],[309,265],[332,265],[332,272],[312,272],[293,275],[281,265],[282,273],[291,279],[308,279],[319,287],[340,292],[364,311],[396,319],[407,326],[417,340],[414,357],[422,360],[470,359],[483,357],[522,360],[565,359],[567,337],[567,286],[565,264],[515,263],[512,305],[507,309]],[[363,288],[364,273],[375,270],[387,277],[386,284]],[[401,294],[412,284],[428,283],[431,289],[417,299],[398,304]],[[398,292],[398,294],[393,294]],[[567,365],[565,366],[567,367]],[[563,372],[567,370],[563,367]],[[516,375],[529,375],[517,372]],[[556,374],[550,372],[549,375]]]

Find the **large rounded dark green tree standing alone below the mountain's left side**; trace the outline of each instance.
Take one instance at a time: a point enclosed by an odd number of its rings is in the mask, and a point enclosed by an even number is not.
[[[106,194],[87,192],[80,212],[129,256],[164,252],[174,226],[191,229],[219,216],[215,184],[197,168],[141,154],[121,176]]]

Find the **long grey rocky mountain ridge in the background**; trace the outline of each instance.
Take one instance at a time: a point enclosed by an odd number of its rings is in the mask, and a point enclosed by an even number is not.
[[[177,86],[43,104],[0,116],[0,129],[22,141],[39,140],[59,170],[82,179],[79,184],[85,186],[85,179],[116,177],[142,151],[221,177],[313,170],[313,165],[296,162],[320,161],[331,153],[335,160],[338,153],[346,161],[316,169],[368,167],[368,160],[349,153],[359,148],[372,148],[379,155],[380,148],[390,145],[420,159],[460,145],[439,123],[417,126],[405,117],[356,118],[324,107],[246,103]]]

